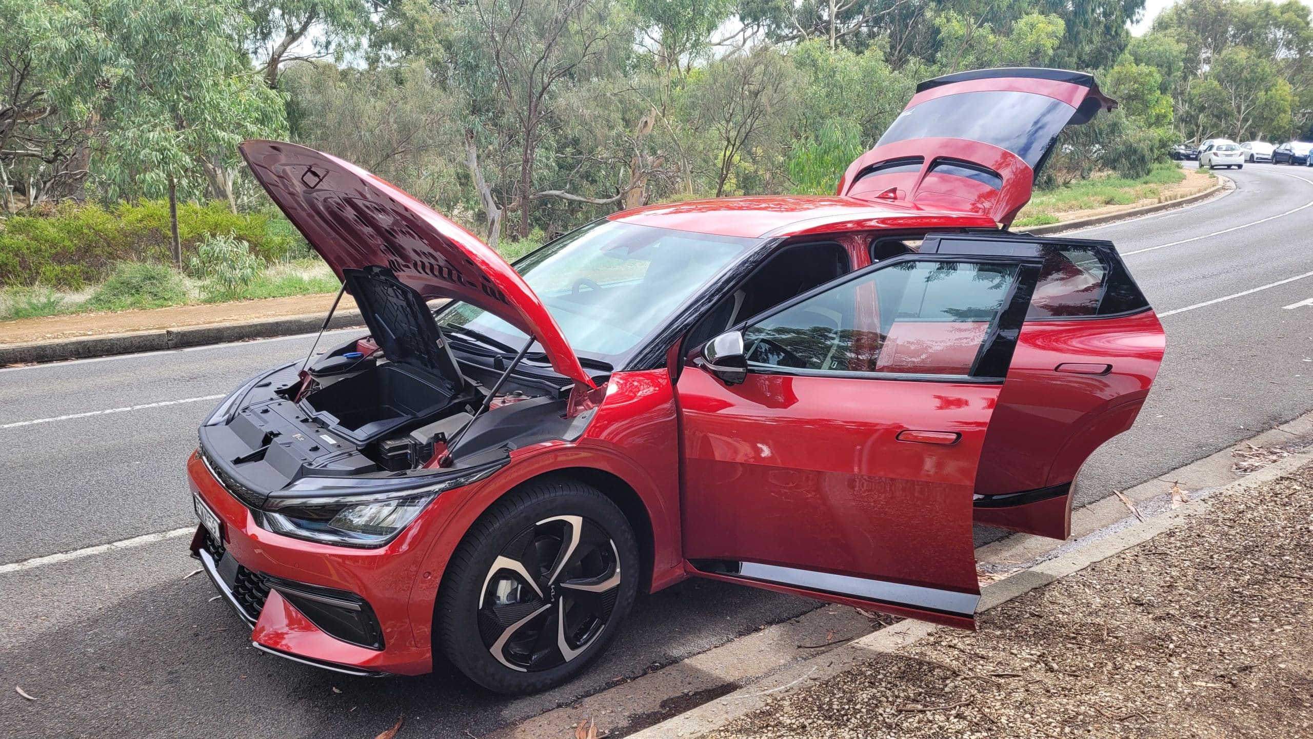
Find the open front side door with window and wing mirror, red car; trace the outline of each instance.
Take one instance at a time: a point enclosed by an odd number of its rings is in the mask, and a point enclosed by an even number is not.
[[[886,259],[693,350],[693,571],[972,627],[977,469],[1041,262]]]

